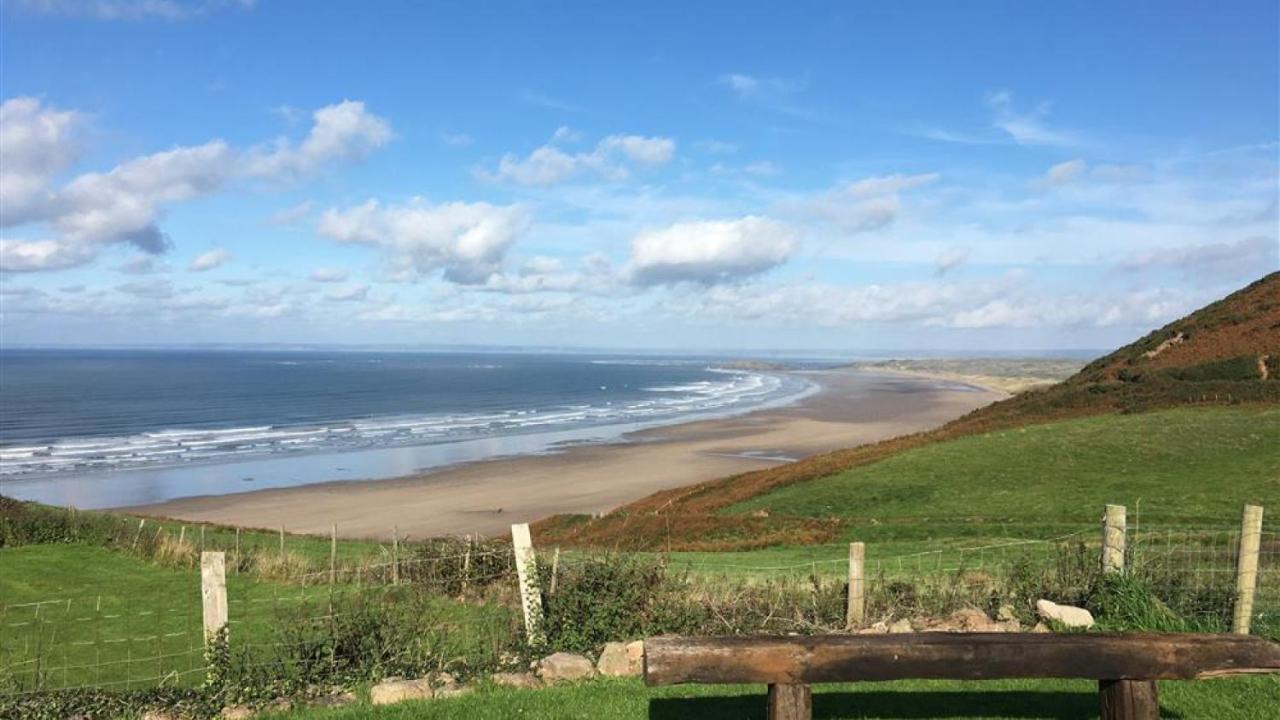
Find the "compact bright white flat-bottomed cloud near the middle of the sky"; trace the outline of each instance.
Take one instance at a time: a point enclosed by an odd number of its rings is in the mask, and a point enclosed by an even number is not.
[[[631,241],[630,277],[641,286],[748,278],[786,263],[797,237],[795,228],[755,215],[676,223]]]

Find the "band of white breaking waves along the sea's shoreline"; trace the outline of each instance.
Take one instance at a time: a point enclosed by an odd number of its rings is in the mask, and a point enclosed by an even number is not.
[[[360,450],[611,424],[678,421],[745,411],[797,392],[803,380],[742,370],[645,388],[645,397],[553,407],[398,415],[314,425],[166,428],[128,437],[0,446],[0,477],[209,462],[279,452]]]

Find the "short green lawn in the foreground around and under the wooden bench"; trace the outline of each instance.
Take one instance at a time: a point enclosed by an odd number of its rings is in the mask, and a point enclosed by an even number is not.
[[[1005,680],[850,683],[817,685],[815,717],[956,720],[1087,720],[1098,716],[1097,685],[1087,680]],[[1161,683],[1165,717],[1253,720],[1280,706],[1280,679]],[[596,680],[543,691],[485,688],[454,700],[406,702],[390,707],[298,710],[276,720],[474,720],[529,719],[685,719],[764,717],[764,688],[754,685],[680,685],[645,688],[636,680]]]

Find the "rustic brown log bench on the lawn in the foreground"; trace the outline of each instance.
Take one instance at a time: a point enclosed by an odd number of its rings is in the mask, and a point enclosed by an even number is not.
[[[658,637],[649,685],[768,683],[771,720],[813,716],[813,683],[1087,678],[1103,720],[1156,720],[1156,680],[1280,673],[1280,646],[1249,635],[908,633]]]

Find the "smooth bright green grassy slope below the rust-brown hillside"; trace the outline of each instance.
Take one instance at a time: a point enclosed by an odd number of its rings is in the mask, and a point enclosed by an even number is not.
[[[989,524],[1087,527],[1105,503],[1149,523],[1226,525],[1280,505],[1280,407],[1181,409],[1068,420],[932,443],[728,509],[841,516],[860,536]],[[874,519],[877,525],[867,525]],[[906,527],[902,527],[902,524]]]

